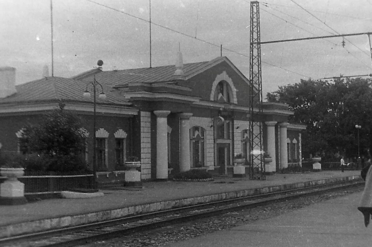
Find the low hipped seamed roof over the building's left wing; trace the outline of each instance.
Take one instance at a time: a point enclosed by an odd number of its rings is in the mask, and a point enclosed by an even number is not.
[[[40,80],[34,80],[25,84],[16,85],[17,92],[9,97],[0,99],[0,103],[10,102],[33,102],[48,100],[67,100],[80,102],[93,102],[93,86],[88,86],[88,91],[92,96],[89,100],[83,98],[87,83],[81,80],[68,79],[62,77],[46,77]],[[99,94],[101,88],[96,90]],[[125,101],[116,97],[112,88],[103,85],[103,92],[107,95],[105,103],[121,104]],[[97,100],[97,102],[99,102]]]

